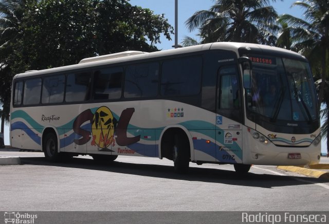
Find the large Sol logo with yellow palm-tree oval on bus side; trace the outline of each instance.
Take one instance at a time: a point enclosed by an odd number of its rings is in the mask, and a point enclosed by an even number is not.
[[[84,145],[90,140],[92,134],[93,140],[91,145],[104,149],[109,145],[127,146],[134,144],[140,140],[140,135],[135,137],[127,137],[127,127],[129,121],[135,112],[135,108],[127,108],[122,111],[119,121],[117,121],[107,107],[100,107],[95,114],[90,109],[83,111],[77,116],[73,123],[73,131],[82,136],[80,139],[74,139],[75,144]],[[92,133],[82,129],[81,125],[86,121],[92,124]],[[117,137],[114,139],[114,133]]]

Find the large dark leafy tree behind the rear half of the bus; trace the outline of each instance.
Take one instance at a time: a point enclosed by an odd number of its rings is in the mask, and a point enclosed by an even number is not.
[[[15,50],[26,69],[37,70],[126,50],[156,51],[160,33],[170,39],[173,32],[167,19],[123,0],[32,1],[21,29]]]

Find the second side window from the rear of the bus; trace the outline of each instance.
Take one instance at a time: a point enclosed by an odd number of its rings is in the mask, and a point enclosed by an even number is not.
[[[41,78],[33,78],[25,81],[23,105],[36,105],[40,103]]]

